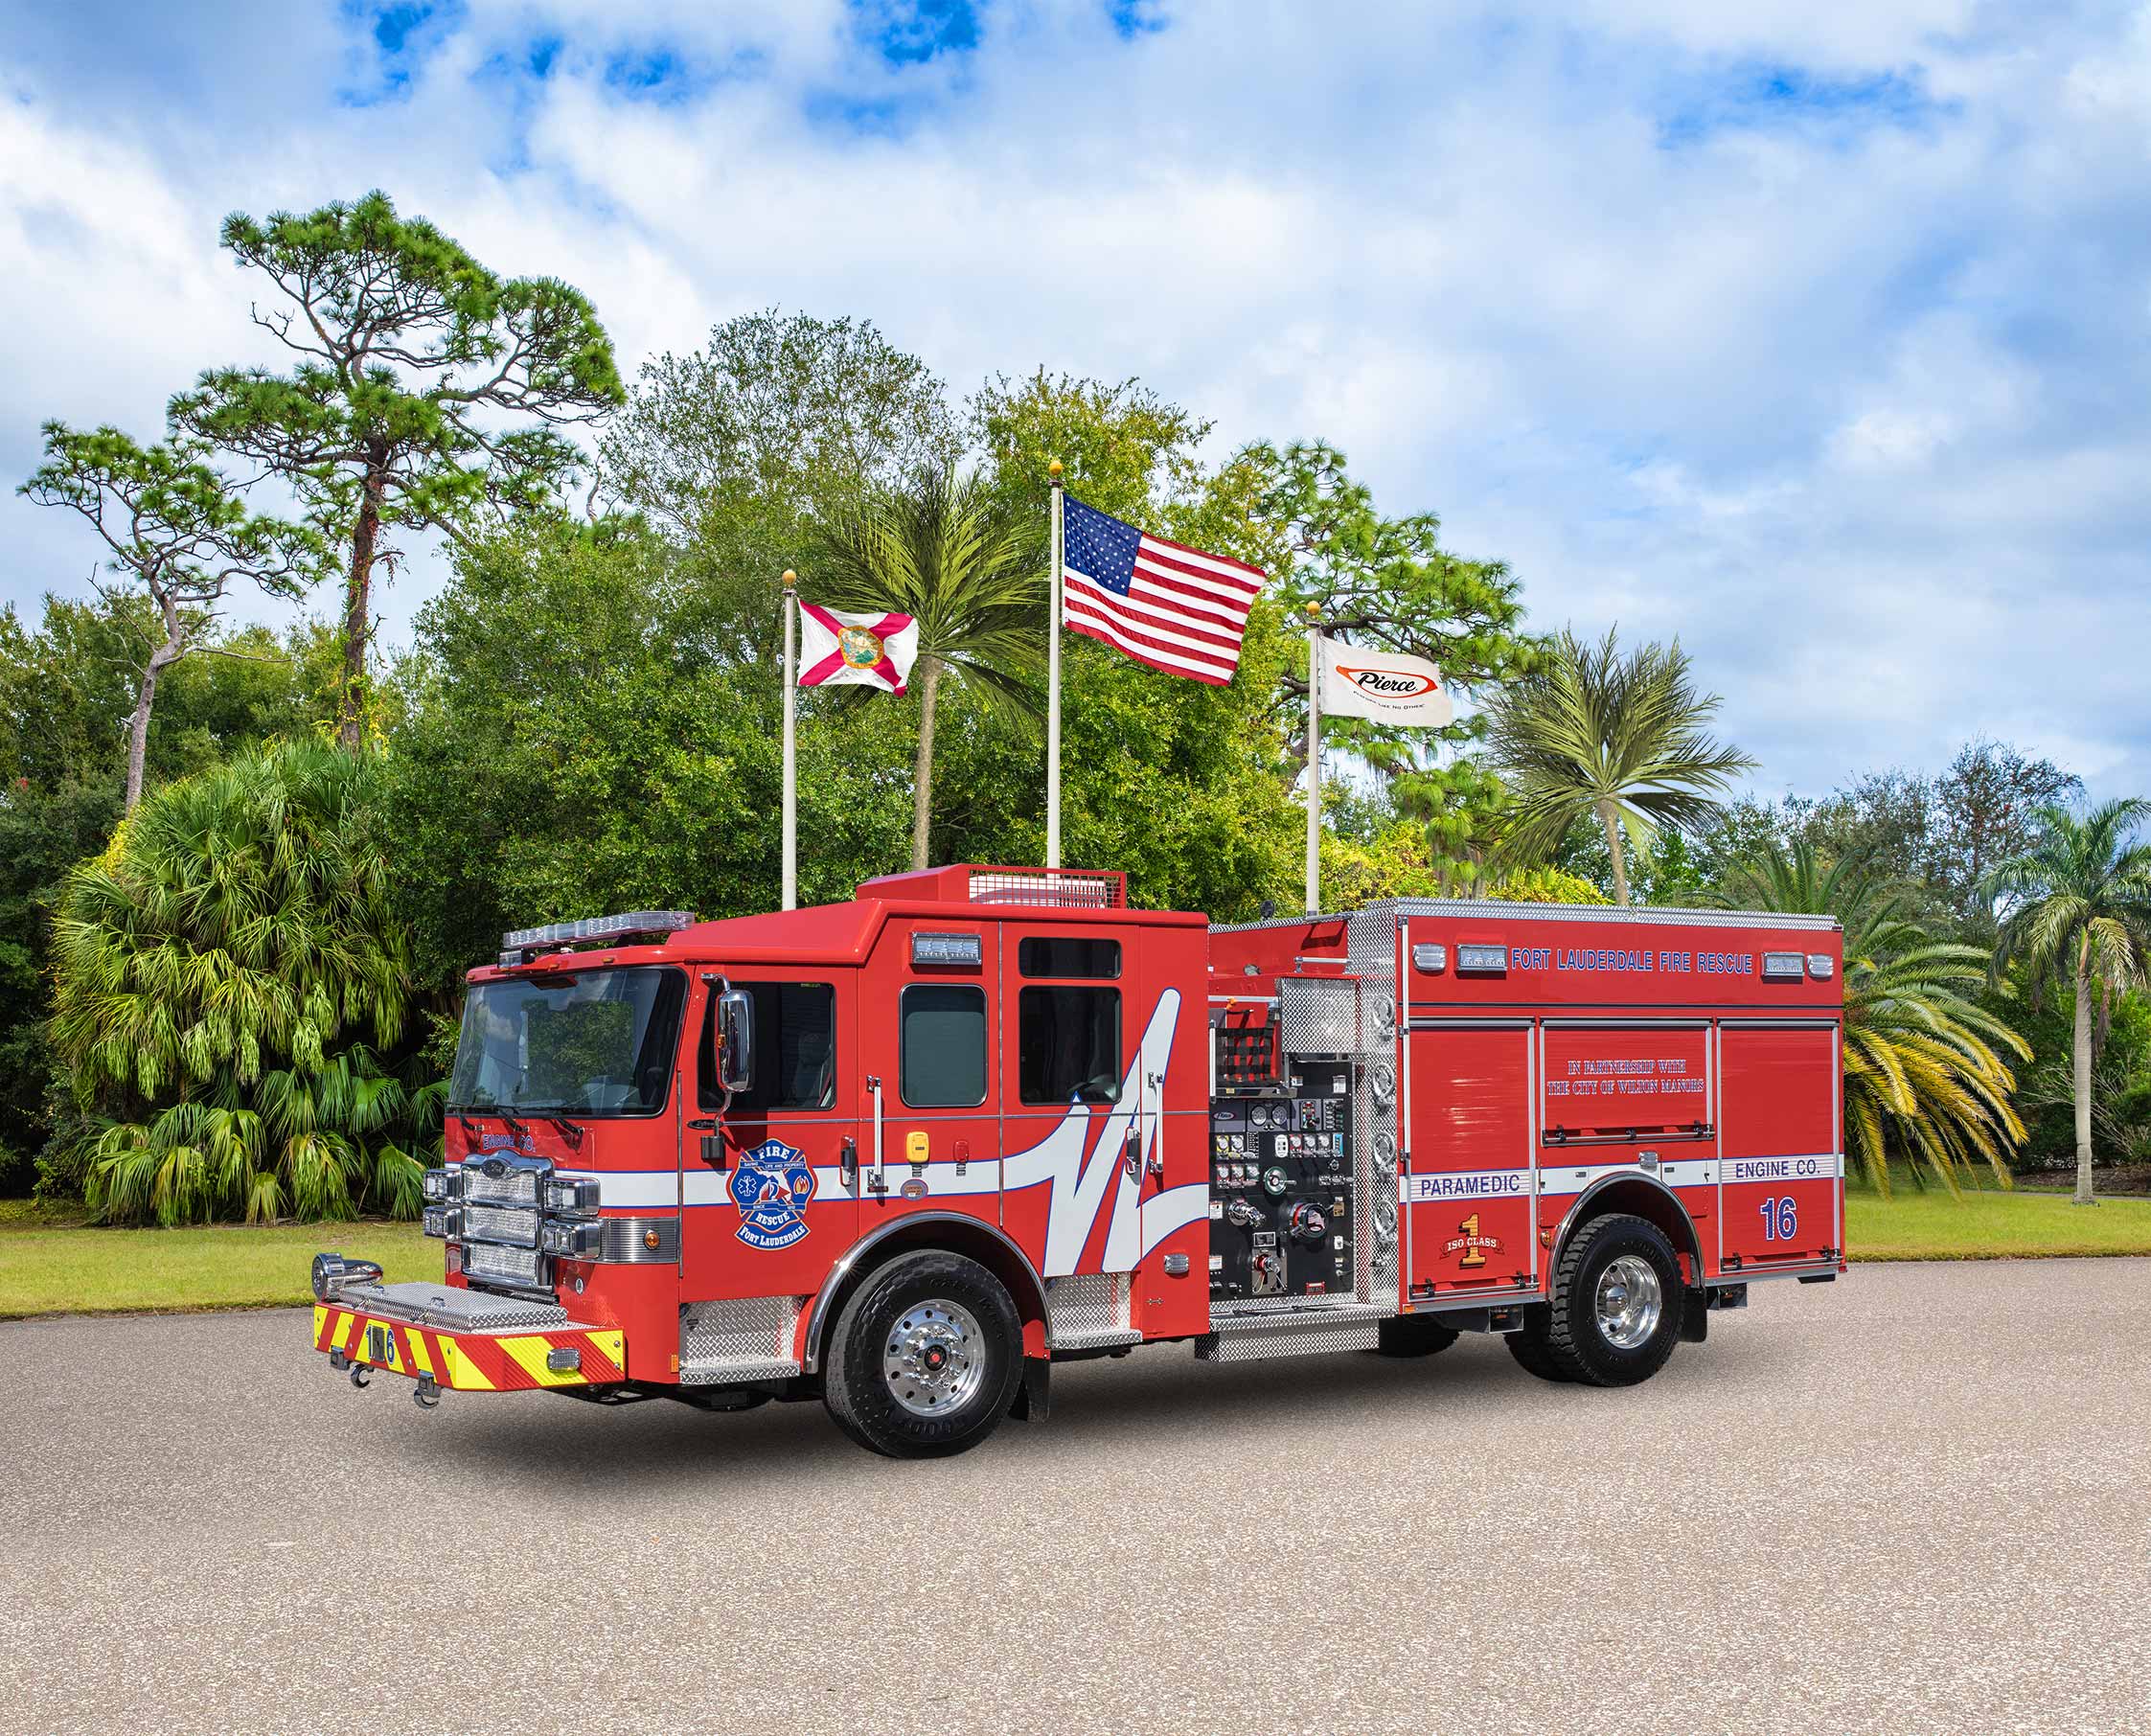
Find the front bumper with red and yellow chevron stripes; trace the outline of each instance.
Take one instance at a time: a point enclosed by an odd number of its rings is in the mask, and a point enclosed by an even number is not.
[[[445,1284],[348,1284],[314,1306],[314,1349],[456,1392],[613,1385],[626,1334],[564,1308]]]

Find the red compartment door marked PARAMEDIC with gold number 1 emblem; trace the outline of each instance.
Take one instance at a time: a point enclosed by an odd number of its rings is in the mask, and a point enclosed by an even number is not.
[[[1407,1295],[1536,1289],[1527,1020],[1405,1035],[1405,1155]]]

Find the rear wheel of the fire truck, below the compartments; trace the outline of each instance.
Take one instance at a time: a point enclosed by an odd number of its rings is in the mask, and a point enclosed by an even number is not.
[[[1682,1301],[1680,1261],[1656,1224],[1594,1218],[1553,1269],[1547,1355],[1587,1385],[1648,1381],[1680,1342]]]

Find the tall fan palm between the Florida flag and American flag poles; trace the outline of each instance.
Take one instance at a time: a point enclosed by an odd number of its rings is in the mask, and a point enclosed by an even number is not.
[[[1045,643],[1045,574],[1028,533],[981,478],[921,469],[908,488],[835,514],[813,589],[832,609],[893,609],[918,622],[918,759],[912,867],[927,865],[934,815],[934,706],[955,675],[994,708],[1035,710]]]

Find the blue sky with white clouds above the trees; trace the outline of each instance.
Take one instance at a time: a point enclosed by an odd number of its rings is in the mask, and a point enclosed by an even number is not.
[[[217,219],[368,185],[630,368],[774,303],[1325,437],[1534,624],[1678,632],[1764,792],[2151,792],[2147,6],[15,0],[0,473],[269,359]],[[0,600],[84,589],[0,527]]]

